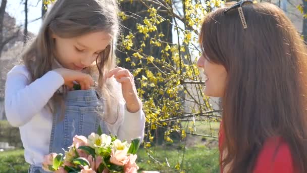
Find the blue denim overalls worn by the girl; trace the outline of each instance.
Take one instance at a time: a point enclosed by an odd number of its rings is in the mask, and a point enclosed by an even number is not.
[[[61,109],[57,109],[61,110]],[[63,153],[73,143],[75,135],[86,138],[97,133],[98,125],[103,133],[109,134],[107,124],[102,119],[104,104],[94,90],[77,90],[67,93],[65,98],[65,116],[61,111],[53,117],[49,153]],[[47,173],[39,166],[31,165],[29,173]]]

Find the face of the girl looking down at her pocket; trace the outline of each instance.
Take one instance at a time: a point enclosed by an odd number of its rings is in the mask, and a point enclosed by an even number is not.
[[[64,68],[72,70],[90,66],[112,40],[112,36],[104,31],[72,38],[62,38],[55,34],[52,36],[55,39],[57,61]]]

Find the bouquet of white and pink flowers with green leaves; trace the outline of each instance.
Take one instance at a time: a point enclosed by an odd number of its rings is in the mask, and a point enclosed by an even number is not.
[[[57,173],[134,173],[138,169],[135,160],[139,144],[140,138],[129,144],[116,136],[103,134],[99,127],[97,134],[92,133],[88,138],[76,135],[64,157],[61,153],[45,156],[42,168]]]

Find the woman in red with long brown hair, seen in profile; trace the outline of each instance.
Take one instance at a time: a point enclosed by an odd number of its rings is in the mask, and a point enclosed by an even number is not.
[[[286,15],[239,2],[204,18],[207,96],[222,97],[221,172],[307,172],[307,51]]]

